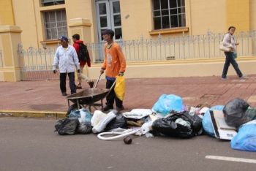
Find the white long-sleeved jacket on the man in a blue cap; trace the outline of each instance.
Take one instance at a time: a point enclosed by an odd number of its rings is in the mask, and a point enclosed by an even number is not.
[[[59,72],[75,72],[75,69],[79,69],[78,54],[75,48],[68,45],[65,50],[64,47],[59,46],[56,50],[53,60],[53,70],[59,65]]]

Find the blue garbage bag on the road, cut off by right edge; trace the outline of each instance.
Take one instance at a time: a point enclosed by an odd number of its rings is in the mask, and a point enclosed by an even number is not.
[[[256,152],[256,120],[244,123],[230,142],[231,148]]]

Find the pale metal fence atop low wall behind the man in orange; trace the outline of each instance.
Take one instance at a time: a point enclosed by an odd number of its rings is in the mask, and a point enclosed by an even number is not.
[[[166,61],[190,58],[218,58],[224,56],[219,50],[219,42],[225,34],[213,34],[210,31],[206,35],[167,37],[158,39],[140,39],[120,41],[124,56],[129,62],[137,61]],[[235,35],[240,42],[237,47],[238,56],[256,55],[256,31],[240,32]],[[103,44],[92,43],[94,62],[103,60]]]

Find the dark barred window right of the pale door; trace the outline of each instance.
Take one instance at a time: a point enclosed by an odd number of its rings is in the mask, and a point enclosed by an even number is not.
[[[184,0],[153,0],[154,29],[186,26]]]

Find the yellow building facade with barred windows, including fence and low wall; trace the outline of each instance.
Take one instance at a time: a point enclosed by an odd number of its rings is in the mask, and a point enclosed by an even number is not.
[[[106,28],[123,49],[127,77],[220,75],[229,26],[241,42],[239,66],[255,74],[256,0],[0,0],[0,80],[51,73],[58,38],[73,34],[89,44],[86,74],[96,78]]]

